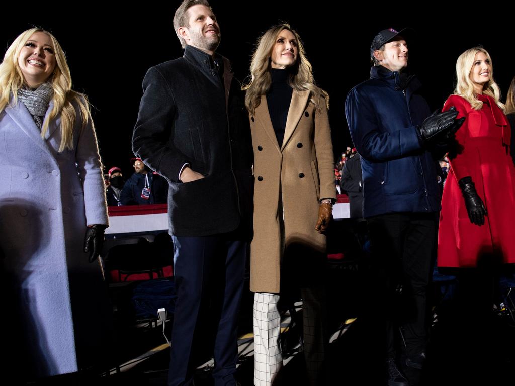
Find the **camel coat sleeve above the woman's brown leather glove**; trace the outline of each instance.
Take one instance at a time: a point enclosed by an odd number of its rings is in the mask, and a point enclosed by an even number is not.
[[[320,98],[319,105],[320,110],[315,110],[315,152],[320,178],[320,198],[330,198],[335,202],[333,142],[325,98]]]

